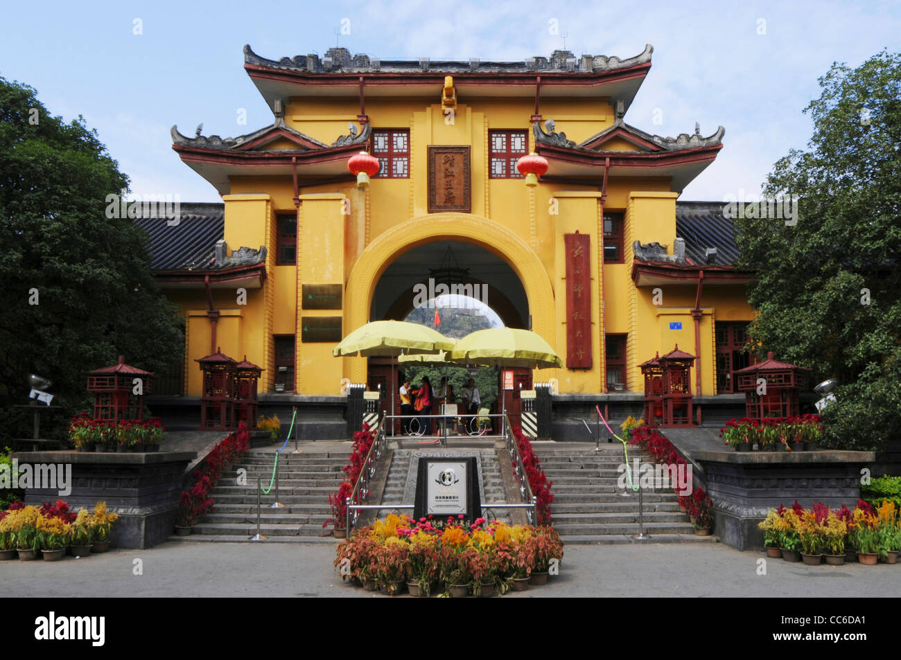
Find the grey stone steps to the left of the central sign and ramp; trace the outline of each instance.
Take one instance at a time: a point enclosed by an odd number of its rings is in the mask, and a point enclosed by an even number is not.
[[[260,534],[268,541],[322,541],[334,543],[323,535],[323,522],[332,517],[329,494],[335,493],[345,475],[341,472],[350,456],[347,448],[332,452],[292,454],[286,448],[278,457],[278,500],[285,506],[271,509],[275,485],[261,494]],[[257,478],[268,487],[272,463],[278,447],[253,448],[232,470],[219,479],[213,489],[214,512],[197,523],[189,537],[172,540],[245,541],[257,533]],[[247,484],[238,485],[238,470],[247,470]],[[331,526],[330,526],[331,527]]]

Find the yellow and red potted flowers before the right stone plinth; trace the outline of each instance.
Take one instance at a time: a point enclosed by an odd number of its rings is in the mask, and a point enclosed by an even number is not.
[[[770,509],[758,527],[763,530],[764,545],[780,548],[787,559],[790,553],[838,557],[850,550],[858,553],[861,563],[875,564],[878,557],[894,564],[901,550],[901,517],[889,501],[877,510],[858,500],[853,511],[845,505],[833,511],[823,502],[806,510],[796,501],[790,509],[783,505]],[[872,561],[864,562],[865,556]],[[819,564],[819,559],[807,563]]]

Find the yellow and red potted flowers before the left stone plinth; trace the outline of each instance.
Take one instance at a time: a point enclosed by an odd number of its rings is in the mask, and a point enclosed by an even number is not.
[[[40,508],[14,502],[7,511],[0,511],[0,553],[9,559],[15,550],[34,554],[43,551],[46,555],[70,545],[98,547],[109,543],[118,518],[118,514],[106,511],[106,502],[97,502],[94,511],[82,507],[77,514],[63,500],[45,502]],[[22,552],[20,556],[24,558]]]

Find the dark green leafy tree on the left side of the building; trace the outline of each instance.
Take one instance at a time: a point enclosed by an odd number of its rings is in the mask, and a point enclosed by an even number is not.
[[[27,402],[27,375],[50,378],[65,406],[57,434],[85,405],[83,370],[120,354],[151,371],[180,359],[180,321],[150,276],[146,234],[105,215],[106,196],[128,184],[82,117],[50,116],[32,87],[0,77],[0,396]],[[21,437],[28,417],[9,410],[0,437]]]

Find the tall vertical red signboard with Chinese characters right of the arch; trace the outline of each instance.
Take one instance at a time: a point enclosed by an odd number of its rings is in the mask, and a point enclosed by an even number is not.
[[[566,366],[591,368],[591,247],[587,234],[563,235],[566,249]]]

